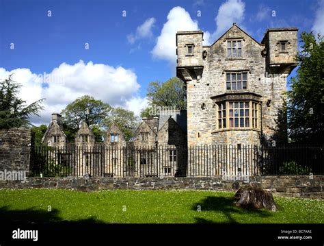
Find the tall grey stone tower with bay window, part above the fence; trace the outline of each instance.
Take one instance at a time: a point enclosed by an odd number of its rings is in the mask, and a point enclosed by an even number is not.
[[[202,42],[202,31],[176,34],[188,146],[271,139],[286,77],[296,66],[297,28],[268,29],[260,43],[234,23],[213,45]]]

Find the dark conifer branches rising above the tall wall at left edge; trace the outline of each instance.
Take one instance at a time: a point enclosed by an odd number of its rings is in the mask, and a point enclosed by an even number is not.
[[[12,75],[0,82],[0,129],[30,126],[28,119],[31,115],[39,116],[44,108],[44,99],[26,105],[26,101],[18,98],[21,84],[14,82]]]

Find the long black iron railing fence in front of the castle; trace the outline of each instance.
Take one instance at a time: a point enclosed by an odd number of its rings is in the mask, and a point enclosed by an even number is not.
[[[32,175],[43,177],[324,174],[323,146],[210,145],[194,147],[33,147]]]

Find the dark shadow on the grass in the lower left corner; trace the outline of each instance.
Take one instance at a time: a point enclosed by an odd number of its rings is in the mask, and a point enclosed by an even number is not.
[[[59,210],[53,208],[51,212],[47,210],[40,210],[38,208],[28,208],[25,210],[10,209],[9,206],[0,208],[0,224],[51,224],[51,223],[67,223],[67,224],[103,224],[104,221],[100,221],[95,217],[89,217],[87,219],[79,219],[75,221],[64,221],[62,217],[59,217]]]

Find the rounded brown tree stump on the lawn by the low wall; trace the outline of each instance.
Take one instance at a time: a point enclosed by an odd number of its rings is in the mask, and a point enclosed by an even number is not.
[[[258,184],[247,184],[242,186],[235,193],[234,198],[238,200],[237,206],[242,208],[266,208],[275,211],[275,201],[267,190],[262,189]]]

